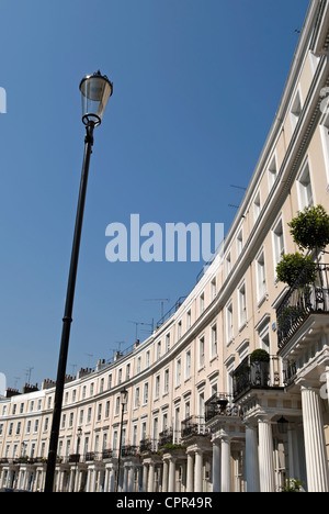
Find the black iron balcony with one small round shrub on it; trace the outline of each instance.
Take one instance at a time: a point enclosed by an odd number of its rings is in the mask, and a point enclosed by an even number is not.
[[[261,361],[249,355],[232,373],[234,401],[253,389],[283,389],[281,377],[280,357],[269,356],[268,361]]]

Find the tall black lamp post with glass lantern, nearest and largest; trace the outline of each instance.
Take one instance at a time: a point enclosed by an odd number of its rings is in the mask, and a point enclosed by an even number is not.
[[[86,202],[88,172],[90,156],[93,146],[93,130],[100,125],[109,98],[113,92],[113,85],[106,76],[98,71],[94,75],[84,77],[80,82],[82,98],[82,122],[86,125],[84,155],[81,171],[80,191],[76,216],[76,227],[72,243],[70,270],[67,286],[65,314],[63,319],[63,332],[57,368],[57,380],[55,391],[55,403],[53,412],[52,434],[49,442],[47,472],[45,482],[45,492],[53,492],[54,476],[56,467],[56,455],[59,436],[59,424],[61,416],[63,393],[65,384],[65,373],[67,365],[67,355],[70,337],[70,327],[72,322],[73,299],[76,290],[77,269],[79,260],[80,239],[82,231],[83,211]]]

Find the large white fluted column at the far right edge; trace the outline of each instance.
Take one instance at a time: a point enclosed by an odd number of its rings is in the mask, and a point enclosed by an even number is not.
[[[329,492],[324,420],[318,391],[302,386],[302,409],[308,492]]]

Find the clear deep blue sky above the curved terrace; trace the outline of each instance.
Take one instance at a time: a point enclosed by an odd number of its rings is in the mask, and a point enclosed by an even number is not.
[[[0,371],[56,378],[84,128],[79,83],[114,82],[95,131],[67,371],[109,359],[203,262],[105,259],[105,228],[229,228],[275,115],[308,0],[1,0]],[[138,336],[146,326],[138,326]],[[122,342],[122,343],[118,343]]]

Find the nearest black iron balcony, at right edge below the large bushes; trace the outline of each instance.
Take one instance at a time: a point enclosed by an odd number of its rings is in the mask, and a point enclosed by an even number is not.
[[[276,309],[277,345],[284,348],[311,314],[329,314],[329,266],[316,267],[317,280],[305,286],[303,272]]]

